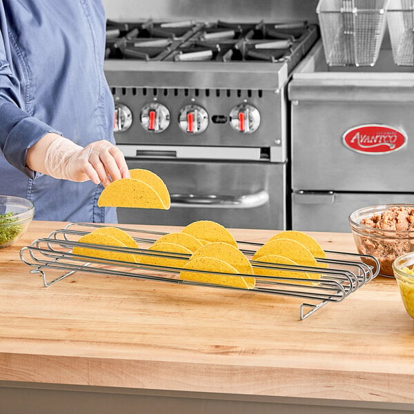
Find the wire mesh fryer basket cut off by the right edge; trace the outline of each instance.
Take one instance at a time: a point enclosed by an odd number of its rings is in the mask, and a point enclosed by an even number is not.
[[[386,19],[394,63],[414,66],[414,0],[391,0]]]

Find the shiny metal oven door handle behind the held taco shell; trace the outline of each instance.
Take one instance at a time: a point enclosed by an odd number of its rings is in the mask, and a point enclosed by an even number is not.
[[[171,194],[171,207],[255,208],[268,203],[269,195],[262,190],[248,195]]]

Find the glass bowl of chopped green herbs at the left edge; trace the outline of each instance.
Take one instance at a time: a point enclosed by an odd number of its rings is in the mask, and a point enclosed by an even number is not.
[[[32,201],[0,195],[0,248],[17,242],[28,230],[34,215]]]

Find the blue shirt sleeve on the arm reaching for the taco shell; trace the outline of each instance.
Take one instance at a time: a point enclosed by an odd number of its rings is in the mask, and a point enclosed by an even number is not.
[[[26,112],[21,92],[25,85],[13,73],[10,47],[6,13],[0,1],[0,150],[8,163],[35,178],[37,173],[26,166],[28,148],[48,132],[61,132]]]

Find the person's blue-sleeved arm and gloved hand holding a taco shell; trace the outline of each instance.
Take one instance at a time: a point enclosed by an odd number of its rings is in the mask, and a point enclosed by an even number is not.
[[[0,151],[6,160],[31,178],[41,172],[72,181],[91,179],[107,186],[110,179],[129,177],[124,155],[110,142],[95,141],[82,148],[24,110],[24,85],[12,70],[11,56],[6,13],[0,1]]]

